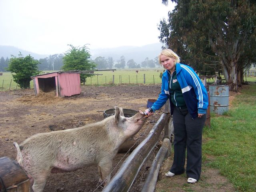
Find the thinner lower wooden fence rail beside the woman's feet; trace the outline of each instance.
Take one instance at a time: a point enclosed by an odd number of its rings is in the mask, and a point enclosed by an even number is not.
[[[154,192],[156,181],[158,178],[158,173],[164,161],[164,156],[166,155],[169,146],[170,146],[170,140],[168,138],[165,138],[160,150],[156,154],[156,157],[152,163],[152,166],[150,167],[148,176],[146,178],[146,181],[144,183],[144,186],[141,192]]]

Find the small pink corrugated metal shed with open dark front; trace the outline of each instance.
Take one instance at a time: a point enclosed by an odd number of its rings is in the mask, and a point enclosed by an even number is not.
[[[56,90],[56,96],[72,96],[81,93],[79,72],[52,72],[31,77],[36,95]]]

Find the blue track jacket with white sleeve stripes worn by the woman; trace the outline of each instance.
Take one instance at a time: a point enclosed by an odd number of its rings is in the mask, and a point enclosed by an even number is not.
[[[208,94],[206,88],[202,84],[200,78],[194,72],[194,70],[187,65],[176,63],[176,73],[177,80],[180,84],[188,112],[191,114],[192,118],[196,118],[198,113],[206,114],[208,107]],[[155,112],[160,109],[169,98],[169,86],[168,82],[168,72],[167,70],[163,73],[162,76],[162,88],[161,93],[158,96],[158,99],[152,105],[152,109]],[[171,114],[173,113],[174,104],[170,100]]]

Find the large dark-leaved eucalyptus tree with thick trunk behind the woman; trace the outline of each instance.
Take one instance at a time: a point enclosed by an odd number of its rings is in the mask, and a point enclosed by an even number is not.
[[[162,0],[164,4],[168,0]],[[255,42],[256,2],[254,0],[172,0],[176,6],[168,22],[158,26],[160,41],[172,48],[188,64],[210,70],[218,64],[230,85],[237,91],[242,82],[243,60],[252,61],[246,53]],[[243,58],[241,60],[240,58]],[[218,69],[218,65],[215,65]]]

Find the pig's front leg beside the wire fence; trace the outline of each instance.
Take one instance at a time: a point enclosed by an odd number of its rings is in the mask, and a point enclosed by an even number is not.
[[[102,185],[103,187],[108,184],[110,181],[110,174],[112,170],[112,160],[105,160],[101,161],[98,164],[99,174],[100,174],[100,180],[97,184],[97,186]]]

